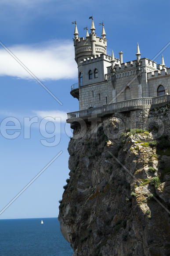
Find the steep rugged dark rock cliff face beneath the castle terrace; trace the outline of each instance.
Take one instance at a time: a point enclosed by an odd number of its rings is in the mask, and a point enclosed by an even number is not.
[[[161,109],[170,135],[170,111]],[[75,256],[167,256],[170,140],[165,132],[153,139],[154,125],[151,132],[131,130],[109,139],[105,123],[116,132],[112,117],[105,117],[98,123],[97,139],[88,124],[84,136],[75,139],[76,128],[69,142],[70,179],[58,216],[61,232]]]

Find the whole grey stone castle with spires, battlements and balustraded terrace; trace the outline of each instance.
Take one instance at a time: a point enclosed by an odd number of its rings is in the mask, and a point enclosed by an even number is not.
[[[101,37],[95,33],[92,18],[91,33],[80,38],[75,23],[74,48],[78,65],[78,83],[72,85],[71,95],[79,100],[79,111],[68,113],[68,123],[75,118],[87,119],[91,114],[103,115],[115,111],[150,108],[170,100],[170,68],[163,55],[162,64],[141,58],[137,43],[136,60],[123,62],[107,55],[104,24]],[[109,112],[108,112],[109,111]]]

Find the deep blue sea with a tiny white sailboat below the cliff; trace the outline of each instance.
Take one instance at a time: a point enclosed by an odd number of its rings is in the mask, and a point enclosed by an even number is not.
[[[0,220],[0,256],[72,256],[58,218]]]

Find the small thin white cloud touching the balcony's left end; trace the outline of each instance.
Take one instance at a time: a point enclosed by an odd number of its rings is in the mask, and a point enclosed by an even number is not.
[[[61,122],[65,123],[67,119],[67,113],[65,111],[60,110],[51,110],[51,111],[42,111],[42,110],[34,110],[33,113],[36,114],[37,117],[61,117]],[[56,122],[60,122],[60,119],[57,118]]]

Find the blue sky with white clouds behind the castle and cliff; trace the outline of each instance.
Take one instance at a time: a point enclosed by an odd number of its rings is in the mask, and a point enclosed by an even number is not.
[[[70,95],[77,82],[72,42],[77,21],[80,37],[83,27],[90,29],[93,15],[96,32],[104,21],[108,54],[123,51],[123,61],[136,58],[139,42],[141,58],[152,59],[169,41],[168,1],[158,0],[0,0],[0,41],[11,50],[51,92],[61,106],[25,70],[0,47],[0,122],[15,117],[21,122],[21,134],[6,139],[0,134],[0,210],[60,151],[61,156],[4,211],[0,218],[43,218],[58,216],[58,200],[69,177],[67,147],[71,135],[65,134],[65,115],[78,110],[78,101]],[[170,66],[170,49],[164,51]],[[155,60],[161,63],[161,56]],[[45,147],[39,132],[43,117],[61,117],[54,147]],[[31,127],[31,138],[24,139],[24,117],[38,117]],[[53,126],[49,131],[52,131]],[[52,140],[49,139],[49,142]]]

